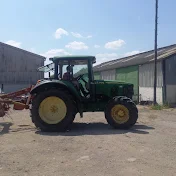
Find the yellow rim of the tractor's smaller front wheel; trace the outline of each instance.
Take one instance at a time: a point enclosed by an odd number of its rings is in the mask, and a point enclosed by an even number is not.
[[[123,124],[129,120],[129,110],[124,105],[115,105],[111,109],[111,116],[118,124]]]

